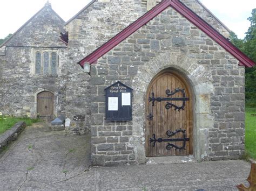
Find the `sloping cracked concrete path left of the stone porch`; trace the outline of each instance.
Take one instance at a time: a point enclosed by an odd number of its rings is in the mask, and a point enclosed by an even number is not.
[[[77,176],[90,165],[90,137],[49,131],[45,123],[25,128],[0,159],[0,190],[45,188]]]

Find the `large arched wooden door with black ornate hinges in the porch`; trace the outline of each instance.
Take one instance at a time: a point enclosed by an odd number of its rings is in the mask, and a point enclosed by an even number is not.
[[[176,72],[157,75],[147,89],[146,155],[193,154],[192,97]]]

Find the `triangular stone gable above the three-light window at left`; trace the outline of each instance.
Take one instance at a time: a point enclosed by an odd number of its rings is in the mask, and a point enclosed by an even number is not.
[[[59,40],[63,31],[64,20],[46,3],[28,22],[19,28],[2,46],[65,46]]]

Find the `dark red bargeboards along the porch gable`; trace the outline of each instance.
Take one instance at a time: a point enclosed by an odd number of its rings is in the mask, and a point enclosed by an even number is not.
[[[87,55],[84,59],[80,60],[78,64],[83,67],[85,62],[89,62],[90,64],[97,63],[97,60],[101,56],[109,52],[113,47],[117,46],[119,43],[121,43],[131,34],[136,32],[140,27],[148,23],[151,19],[159,15],[159,13],[164,11],[169,6],[179,12],[180,15],[183,15],[187,20],[197,26],[201,31],[206,33],[227,52],[232,54],[236,59],[240,61],[241,65],[244,65],[245,67],[253,67],[255,65],[255,63],[250,58],[248,58],[248,56],[242,53],[228,39],[226,39],[217,30],[215,30],[212,26],[206,23],[205,20],[199,17],[191,9],[187,8],[187,6],[181,3],[179,0],[164,0],[163,2],[159,3],[153,9],[145,13],[145,15],[137,19],[134,23],[127,26],[123,31],[107,41],[104,45],[100,46],[91,54]]]

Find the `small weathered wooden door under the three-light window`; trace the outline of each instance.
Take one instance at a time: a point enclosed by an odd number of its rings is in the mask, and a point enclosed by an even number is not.
[[[37,94],[37,114],[44,121],[53,119],[53,94],[49,91],[42,91]]]

